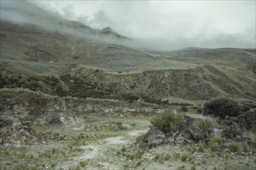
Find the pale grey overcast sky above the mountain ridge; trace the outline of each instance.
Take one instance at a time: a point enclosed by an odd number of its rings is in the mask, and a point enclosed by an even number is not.
[[[110,26],[149,45],[255,48],[254,0],[30,2],[95,29]]]

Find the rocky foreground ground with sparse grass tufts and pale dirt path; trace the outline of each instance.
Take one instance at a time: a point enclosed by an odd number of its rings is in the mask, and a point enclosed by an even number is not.
[[[255,119],[247,117],[254,110],[227,117],[214,148],[210,138],[196,141],[191,131],[174,138],[150,125],[162,112],[186,114],[192,122],[202,117],[195,107],[182,112],[169,105],[51,98],[34,116],[31,101],[16,97],[1,102],[1,169],[255,169],[255,143],[239,131],[240,121],[253,129]]]

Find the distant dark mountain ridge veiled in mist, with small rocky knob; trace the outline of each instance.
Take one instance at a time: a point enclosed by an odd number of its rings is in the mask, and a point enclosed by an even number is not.
[[[129,38],[113,32],[111,28],[92,29],[81,22],[61,19],[54,14],[44,11],[29,2],[4,1],[1,2],[1,20],[11,21],[20,25],[33,24],[48,31],[69,34],[81,39],[94,39],[106,42],[128,41]]]

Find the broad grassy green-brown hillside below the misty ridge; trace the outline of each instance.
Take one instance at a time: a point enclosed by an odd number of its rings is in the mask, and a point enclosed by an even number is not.
[[[1,22],[1,88],[158,103],[227,96],[253,104],[255,81],[255,49],[150,52]]]

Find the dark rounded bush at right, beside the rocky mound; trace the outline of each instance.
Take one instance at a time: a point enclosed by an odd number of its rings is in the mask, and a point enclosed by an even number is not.
[[[216,97],[203,106],[204,114],[213,114],[221,118],[235,117],[240,114],[240,106],[236,100],[226,97]]]

